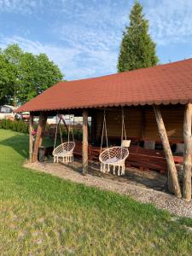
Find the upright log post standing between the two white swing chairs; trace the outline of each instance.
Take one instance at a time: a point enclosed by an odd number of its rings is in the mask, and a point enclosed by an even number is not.
[[[88,172],[88,111],[83,110],[83,174]]]

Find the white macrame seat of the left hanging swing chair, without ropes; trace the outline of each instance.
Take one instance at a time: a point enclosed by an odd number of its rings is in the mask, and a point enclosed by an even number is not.
[[[58,163],[60,159],[62,159],[63,163],[72,162],[74,148],[74,142],[61,143],[53,151],[54,162]]]

